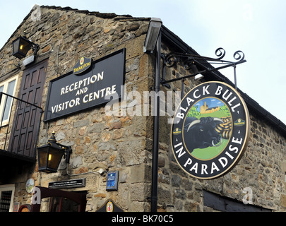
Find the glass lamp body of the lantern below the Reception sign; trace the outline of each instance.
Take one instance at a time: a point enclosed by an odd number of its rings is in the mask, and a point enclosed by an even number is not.
[[[47,173],[56,172],[63,155],[64,149],[55,143],[47,143],[47,145],[37,148],[39,171]]]

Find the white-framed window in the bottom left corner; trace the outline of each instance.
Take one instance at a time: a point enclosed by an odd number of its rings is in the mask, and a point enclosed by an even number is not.
[[[0,185],[0,212],[12,212],[14,184]]]

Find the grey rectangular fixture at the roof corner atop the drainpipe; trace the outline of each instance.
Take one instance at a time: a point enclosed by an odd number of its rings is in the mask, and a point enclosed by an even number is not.
[[[145,37],[143,52],[151,52],[155,49],[161,26],[162,20],[160,18],[151,18]]]

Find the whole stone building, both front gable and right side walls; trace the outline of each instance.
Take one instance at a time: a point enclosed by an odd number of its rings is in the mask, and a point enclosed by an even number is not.
[[[150,211],[154,102],[150,93],[155,82],[155,61],[153,54],[143,52],[149,21],[150,18],[55,6],[35,6],[24,18],[0,50],[1,92],[18,97],[2,95],[1,101],[1,115],[7,115],[7,119],[1,120],[1,210],[30,208],[33,198],[27,182],[32,182],[32,187],[49,188],[49,191],[51,184],[66,182],[66,187],[60,190],[83,194],[87,212],[99,210],[110,199],[124,211]],[[12,55],[12,42],[24,34],[39,46],[35,61],[30,64],[24,60],[34,54],[32,48],[24,59]],[[168,52],[197,54],[163,25],[162,54]],[[121,89],[124,95],[121,99],[114,99],[112,105],[108,105],[112,100],[109,99],[47,120],[47,105],[53,94],[49,89],[54,81],[70,78],[81,57],[92,59],[96,68],[114,53],[124,53],[124,88]],[[203,70],[210,65],[205,61],[197,66]],[[161,71],[165,79],[172,79],[185,76],[191,70],[177,64],[162,66]],[[222,81],[233,85],[218,71],[209,71],[203,76],[200,81],[185,79],[184,86],[181,81],[175,81],[160,88],[164,93],[172,91],[173,100],[178,93],[185,94],[203,82]],[[87,79],[86,83],[96,80],[95,77]],[[114,78],[106,80],[113,82]],[[62,88],[66,90],[62,95],[81,90],[85,102],[97,99],[95,94],[89,95],[87,85],[80,88],[79,82],[63,81]],[[118,86],[116,88],[119,90]],[[105,92],[111,94],[112,86]],[[160,112],[158,211],[286,210],[286,126],[251,97],[241,90],[239,93],[249,109],[249,143],[239,163],[218,179],[197,179],[179,167],[170,147],[168,121],[173,115]],[[162,100],[165,98],[167,100],[167,94]],[[22,105],[26,107],[21,111]],[[76,99],[66,104],[66,109],[75,105]],[[61,107],[64,108],[64,104]],[[52,111],[60,111],[59,105]],[[46,144],[53,131],[58,143],[71,146],[70,161],[66,163],[63,158],[57,172],[41,172],[37,147]],[[111,191],[107,190],[109,172],[118,172],[118,187]],[[85,183],[68,186],[76,179]],[[59,187],[52,191],[59,191]],[[43,198],[41,210],[56,210],[59,208],[56,201]]]

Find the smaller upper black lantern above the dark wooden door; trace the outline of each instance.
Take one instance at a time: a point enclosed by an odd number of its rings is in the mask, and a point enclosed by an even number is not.
[[[16,40],[12,42],[13,44],[13,56],[18,59],[22,59],[27,56],[28,51],[33,48],[34,55],[37,54],[37,50],[39,49],[39,45],[34,42],[28,40],[25,36],[18,37]]]

